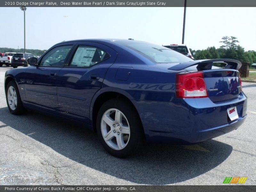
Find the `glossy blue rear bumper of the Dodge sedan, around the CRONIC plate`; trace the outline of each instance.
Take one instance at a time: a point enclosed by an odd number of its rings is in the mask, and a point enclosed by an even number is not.
[[[135,101],[149,142],[198,143],[237,129],[246,118],[247,98],[213,103],[209,98],[172,102]],[[227,109],[237,108],[239,118],[228,122]]]

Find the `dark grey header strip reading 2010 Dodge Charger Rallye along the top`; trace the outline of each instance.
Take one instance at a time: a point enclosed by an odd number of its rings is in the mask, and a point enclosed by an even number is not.
[[[0,7],[184,7],[184,0],[1,0]],[[255,0],[187,0],[187,7],[256,7]],[[223,13],[224,14],[224,13]]]

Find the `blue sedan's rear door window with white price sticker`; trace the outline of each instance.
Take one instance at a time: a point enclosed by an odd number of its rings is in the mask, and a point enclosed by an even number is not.
[[[91,67],[109,57],[107,52],[98,47],[79,45],[69,66]]]

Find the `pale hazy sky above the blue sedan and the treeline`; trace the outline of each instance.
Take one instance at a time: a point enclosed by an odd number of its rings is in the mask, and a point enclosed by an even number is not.
[[[26,49],[47,50],[61,41],[88,38],[181,44],[183,11],[183,7],[27,7]],[[0,47],[23,48],[20,8],[0,7],[0,18]],[[256,51],[256,7],[187,7],[185,44],[191,49],[218,48],[223,36],[235,36],[245,51]]]

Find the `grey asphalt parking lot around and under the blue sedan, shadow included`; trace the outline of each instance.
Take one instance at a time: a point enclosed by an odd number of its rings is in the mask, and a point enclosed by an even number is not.
[[[146,144],[126,159],[109,155],[96,133],[35,112],[11,115],[0,68],[0,185],[17,179],[61,179],[62,185],[222,185],[256,181],[256,84],[243,83],[247,119],[236,131],[191,146]],[[8,181],[8,180],[7,180]]]

